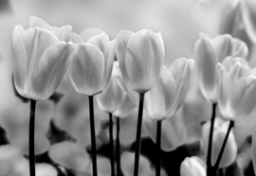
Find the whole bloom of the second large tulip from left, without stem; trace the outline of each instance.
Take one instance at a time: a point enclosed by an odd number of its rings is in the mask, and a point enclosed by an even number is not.
[[[76,44],[74,58],[67,70],[67,77],[75,90],[86,96],[95,96],[105,89],[111,78],[115,57],[115,41],[109,41],[100,29],[88,29],[79,35],[72,33]],[[92,37],[92,38],[89,38]],[[89,40],[88,40],[89,39]]]

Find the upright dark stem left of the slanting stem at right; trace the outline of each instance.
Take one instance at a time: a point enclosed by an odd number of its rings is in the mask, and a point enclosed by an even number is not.
[[[210,118],[210,133],[209,133],[209,142],[208,142],[208,152],[207,152],[207,172],[211,172],[211,146],[212,146],[212,135],[213,135],[213,127],[215,120],[215,111],[216,111],[217,103],[212,103],[212,113]]]

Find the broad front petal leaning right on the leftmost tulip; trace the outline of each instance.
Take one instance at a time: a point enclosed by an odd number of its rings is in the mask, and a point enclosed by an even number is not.
[[[45,100],[56,91],[71,62],[73,50],[73,44],[64,42],[46,49],[38,68],[32,73],[31,86],[35,100]]]

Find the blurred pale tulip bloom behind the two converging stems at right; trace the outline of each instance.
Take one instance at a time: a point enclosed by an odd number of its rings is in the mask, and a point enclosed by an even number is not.
[[[224,138],[229,128],[229,121],[223,121],[220,118],[216,118],[213,127],[212,136],[212,150],[211,150],[211,166],[214,166],[221,150]],[[210,121],[203,125],[201,145],[204,151],[204,156],[208,153],[209,143],[209,132],[210,132]],[[220,162],[219,167],[228,167],[233,163],[237,154],[237,145],[234,137],[233,130],[229,133],[229,138]]]

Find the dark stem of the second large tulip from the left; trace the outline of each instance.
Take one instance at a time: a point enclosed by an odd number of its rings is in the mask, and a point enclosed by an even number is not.
[[[89,109],[90,109],[93,176],[97,176],[98,173],[97,173],[97,157],[96,157],[97,155],[96,155],[96,137],[95,137],[95,125],[94,125],[93,96],[89,96]]]

